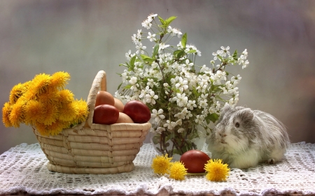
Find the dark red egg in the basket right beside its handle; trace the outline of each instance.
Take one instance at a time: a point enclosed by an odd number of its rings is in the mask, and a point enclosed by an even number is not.
[[[94,109],[93,123],[111,125],[119,117],[118,109],[113,105],[99,105]]]

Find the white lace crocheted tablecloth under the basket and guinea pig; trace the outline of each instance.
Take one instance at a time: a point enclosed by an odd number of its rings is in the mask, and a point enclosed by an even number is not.
[[[292,144],[276,165],[231,169],[227,182],[211,182],[205,176],[186,176],[183,181],[157,176],[151,169],[155,155],[151,144],[144,144],[132,172],[60,174],[48,171],[48,160],[39,144],[20,144],[0,156],[0,194],[315,195],[315,144]]]

